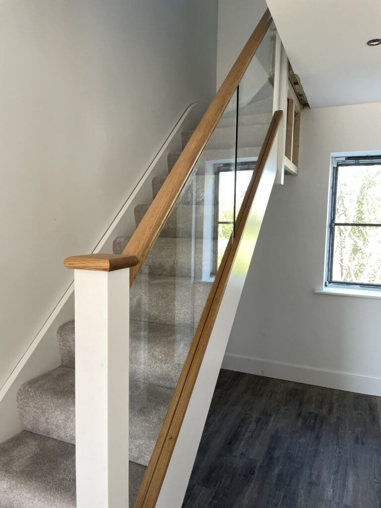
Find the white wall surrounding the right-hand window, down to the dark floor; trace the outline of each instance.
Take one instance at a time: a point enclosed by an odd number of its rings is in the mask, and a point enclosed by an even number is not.
[[[381,299],[313,293],[324,278],[331,153],[381,152],[380,130],[381,103],[303,111],[299,176],[273,188],[225,367],[381,395]]]

